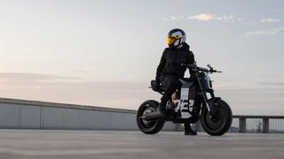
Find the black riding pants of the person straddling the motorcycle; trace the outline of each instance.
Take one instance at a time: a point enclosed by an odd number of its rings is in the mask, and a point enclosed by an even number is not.
[[[166,87],[164,95],[161,98],[161,105],[166,106],[167,102],[170,100],[171,95],[180,89],[182,83],[178,80],[176,76],[168,75],[163,76],[161,79],[162,87]]]

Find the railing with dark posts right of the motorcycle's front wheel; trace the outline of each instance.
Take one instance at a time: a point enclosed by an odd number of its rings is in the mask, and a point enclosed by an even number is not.
[[[284,116],[233,116],[230,132],[284,133]]]

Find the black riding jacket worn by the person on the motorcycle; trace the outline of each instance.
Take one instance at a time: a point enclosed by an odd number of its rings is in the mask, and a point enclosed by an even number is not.
[[[157,68],[156,80],[160,81],[162,76],[167,75],[184,78],[186,68],[181,66],[181,64],[195,63],[193,52],[189,48],[189,45],[184,43],[180,49],[164,49]]]

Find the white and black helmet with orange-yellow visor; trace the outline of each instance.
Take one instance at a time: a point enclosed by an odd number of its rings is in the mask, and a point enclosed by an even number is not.
[[[177,48],[186,40],[185,32],[182,29],[175,28],[170,30],[168,34],[168,45],[170,48]]]

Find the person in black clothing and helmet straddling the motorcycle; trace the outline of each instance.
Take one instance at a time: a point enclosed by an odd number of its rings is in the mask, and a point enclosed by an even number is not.
[[[179,89],[182,84],[178,79],[184,78],[186,68],[181,64],[195,64],[193,52],[185,42],[185,32],[179,28],[170,30],[168,34],[169,48],[164,49],[162,58],[156,72],[156,84],[154,90],[159,90],[160,83],[166,87],[164,95],[158,107],[158,112],[166,116],[166,104],[171,95]],[[191,78],[193,73],[190,72]],[[189,124],[185,124],[185,135],[196,135]]]

